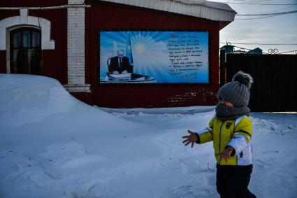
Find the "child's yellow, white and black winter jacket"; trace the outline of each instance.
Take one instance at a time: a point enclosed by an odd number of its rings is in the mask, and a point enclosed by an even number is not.
[[[232,153],[228,162],[222,160],[221,165],[245,166],[252,164],[252,120],[246,115],[236,120],[222,121],[219,118],[212,118],[209,127],[196,133],[197,143],[213,141],[215,158],[219,163],[219,153],[222,153],[227,146],[232,146],[235,152]]]

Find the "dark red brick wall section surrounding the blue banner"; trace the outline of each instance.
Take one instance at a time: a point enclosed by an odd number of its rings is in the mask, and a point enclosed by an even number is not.
[[[88,1],[86,34],[86,77],[97,106],[115,108],[213,105],[219,88],[219,22],[159,10],[103,1]],[[210,85],[100,85],[97,62],[99,29],[209,31]]]

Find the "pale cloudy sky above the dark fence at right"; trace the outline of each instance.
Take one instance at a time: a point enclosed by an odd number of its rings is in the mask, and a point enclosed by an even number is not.
[[[240,15],[280,13],[297,10],[297,0],[212,0],[229,3],[229,6]],[[253,3],[253,4],[249,4]],[[254,4],[256,3],[256,4]],[[260,4],[295,4],[295,5],[260,5]],[[242,19],[252,20],[242,20]],[[280,52],[297,50],[297,13],[265,16],[239,16],[220,31],[220,47],[231,42],[241,48],[261,48],[268,53],[269,49],[277,49]],[[295,45],[247,45],[237,43],[261,43],[261,44],[295,44]],[[240,48],[235,48],[239,50]],[[276,50],[275,50],[276,51]],[[296,51],[288,54],[296,54]]]

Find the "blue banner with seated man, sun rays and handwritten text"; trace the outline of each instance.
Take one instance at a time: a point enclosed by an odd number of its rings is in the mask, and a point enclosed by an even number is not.
[[[100,83],[209,83],[208,31],[99,31]]]

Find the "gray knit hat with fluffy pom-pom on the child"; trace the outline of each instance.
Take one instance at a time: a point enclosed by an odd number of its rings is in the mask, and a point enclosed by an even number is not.
[[[234,106],[247,106],[249,104],[249,89],[253,82],[252,76],[248,73],[238,71],[233,76],[232,82],[219,88],[217,97],[231,101]]]

